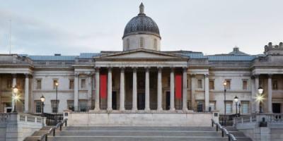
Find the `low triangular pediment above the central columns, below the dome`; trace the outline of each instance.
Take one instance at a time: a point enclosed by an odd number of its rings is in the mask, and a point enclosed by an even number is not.
[[[98,56],[96,59],[187,59],[187,57],[162,51],[135,49]]]

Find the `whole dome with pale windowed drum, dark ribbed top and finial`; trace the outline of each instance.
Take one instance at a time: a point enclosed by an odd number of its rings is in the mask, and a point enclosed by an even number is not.
[[[127,23],[123,39],[123,50],[138,48],[160,51],[161,36],[158,25],[144,13],[144,4],[139,6],[139,14]]]

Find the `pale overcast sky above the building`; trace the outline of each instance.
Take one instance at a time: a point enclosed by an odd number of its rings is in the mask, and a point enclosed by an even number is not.
[[[144,0],[157,23],[161,50],[262,54],[283,42],[282,0]],[[0,0],[0,54],[79,55],[121,51],[127,22],[141,0]]]

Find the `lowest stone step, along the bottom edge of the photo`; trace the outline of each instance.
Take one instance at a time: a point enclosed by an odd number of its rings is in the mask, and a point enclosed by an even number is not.
[[[50,137],[49,140],[56,141],[226,141],[227,137],[164,137],[164,136],[155,136],[155,137],[144,137],[144,136],[66,136],[66,137]]]

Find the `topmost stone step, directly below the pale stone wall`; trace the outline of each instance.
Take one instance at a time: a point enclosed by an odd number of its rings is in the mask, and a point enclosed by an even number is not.
[[[64,130],[185,130],[185,131],[215,131],[211,127],[144,127],[144,126],[69,126],[63,128]]]

